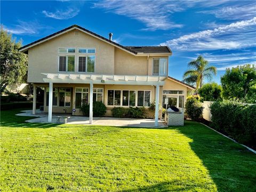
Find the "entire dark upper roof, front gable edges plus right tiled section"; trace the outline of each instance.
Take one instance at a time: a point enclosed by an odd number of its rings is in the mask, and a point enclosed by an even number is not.
[[[95,34],[95,33],[93,33],[92,31],[90,31],[88,29],[80,27],[78,25],[72,25],[72,26],[67,27],[65,29],[62,29],[62,30],[60,30],[60,31],[58,31],[58,32],[56,32],[54,34],[51,34],[51,35],[48,35],[48,36],[43,37],[41,39],[38,39],[35,42],[29,43],[29,44],[27,44],[25,46],[22,46],[22,47],[20,47],[19,51],[24,52],[24,53],[28,53],[28,49],[30,47],[36,46],[38,44],[41,44],[41,43],[43,43],[45,41],[48,41],[48,40],[50,40],[50,39],[52,39],[54,37],[57,37],[57,36],[59,36],[59,35],[61,35],[63,33],[66,33],[67,31],[70,31],[70,30],[73,30],[73,29],[81,30],[81,31],[83,31],[86,34],[89,34],[89,35],[91,35],[91,36],[93,36],[95,38],[98,38],[98,39],[106,42],[106,43],[114,45],[115,47],[118,47],[119,49],[122,49],[122,50],[124,50],[126,52],[129,52],[129,53],[133,54],[133,55],[137,55],[138,53],[172,53],[171,50],[169,49],[169,47],[167,47],[167,46],[147,46],[147,47],[143,46],[143,48],[141,49],[143,51],[141,51],[140,49],[138,49],[138,47],[135,47],[135,46],[129,46],[129,47],[123,46],[123,45],[120,45],[118,43],[115,43],[114,41],[109,40],[108,38],[105,38],[105,37],[102,37],[102,36],[100,36],[98,34]]]

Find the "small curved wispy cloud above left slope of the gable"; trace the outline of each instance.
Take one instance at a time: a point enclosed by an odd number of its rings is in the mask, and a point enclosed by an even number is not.
[[[70,19],[75,17],[79,13],[77,7],[68,7],[66,10],[56,10],[55,12],[42,11],[42,13],[49,18],[53,19]]]

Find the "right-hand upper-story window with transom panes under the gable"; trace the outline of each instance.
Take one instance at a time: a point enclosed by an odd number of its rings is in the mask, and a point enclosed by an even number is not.
[[[95,49],[78,48],[78,72],[94,73]]]

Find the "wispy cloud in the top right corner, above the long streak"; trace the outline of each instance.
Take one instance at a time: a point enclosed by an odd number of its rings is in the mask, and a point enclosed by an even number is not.
[[[251,1],[250,3],[241,5],[238,2],[237,5],[217,7],[213,10],[201,11],[201,13],[214,14],[215,17],[226,20],[249,19],[256,17],[256,3]]]

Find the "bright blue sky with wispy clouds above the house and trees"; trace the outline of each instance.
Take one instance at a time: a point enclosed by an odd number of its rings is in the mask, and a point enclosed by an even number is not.
[[[125,46],[168,45],[180,80],[199,54],[217,83],[226,67],[256,64],[255,1],[1,1],[1,25],[23,45],[74,24]]]

